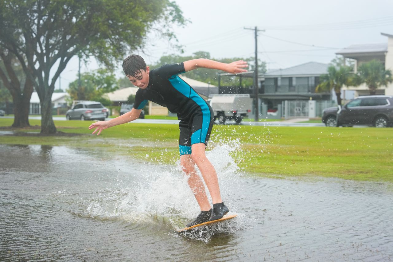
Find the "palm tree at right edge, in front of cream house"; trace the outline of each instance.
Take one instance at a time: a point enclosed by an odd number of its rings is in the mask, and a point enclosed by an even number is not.
[[[392,83],[391,70],[385,70],[384,65],[376,59],[359,66],[358,74],[354,78],[354,85],[365,83],[370,89],[370,95],[375,95],[376,89]]]

